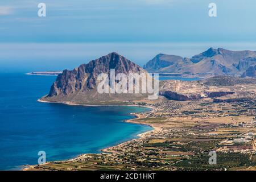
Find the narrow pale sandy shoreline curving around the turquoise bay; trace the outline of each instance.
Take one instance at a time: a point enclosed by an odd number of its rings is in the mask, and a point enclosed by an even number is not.
[[[92,106],[96,106],[96,107],[99,107],[99,106],[108,106],[108,107],[110,107],[110,106],[135,106],[135,107],[147,107],[147,108],[150,108],[150,109],[155,109],[155,107],[151,107],[151,106],[141,106],[141,105],[88,105],[88,104],[75,104],[75,103],[73,103],[73,102],[49,102],[49,101],[43,101],[43,100],[41,100],[41,99],[42,99],[42,98],[39,98],[37,101],[38,101],[38,102],[42,102],[42,103],[65,104],[65,105],[70,105],[70,106],[90,106],[90,107],[92,107]],[[137,124],[137,125],[147,125],[147,126],[150,126],[150,127],[152,128],[152,130],[150,130],[150,131],[145,131],[145,132],[143,132],[143,133],[137,134],[136,136],[137,136],[138,138],[129,139],[129,140],[127,140],[126,142],[121,142],[121,143],[115,144],[114,146],[102,148],[102,149],[100,150],[100,151],[101,151],[100,153],[102,153],[102,154],[104,154],[104,153],[111,153],[111,151],[108,151],[108,150],[110,150],[112,147],[119,146],[119,145],[123,145],[123,144],[125,144],[125,143],[127,143],[127,142],[131,142],[131,141],[133,141],[133,140],[138,140],[138,139],[145,138],[148,133],[155,132],[155,131],[159,130],[159,128],[158,128],[158,127],[155,127],[154,125],[149,125],[149,124],[147,124],[147,123],[138,123],[138,122],[135,122],[135,120],[141,118],[141,117],[139,116],[139,113],[130,113],[130,114],[131,114],[131,115],[134,115],[135,118],[126,119],[126,120],[124,120],[124,121],[122,121],[122,122],[134,123],[134,124]],[[67,159],[67,160],[58,160],[58,161],[61,161],[61,162],[62,162],[62,161],[73,161],[73,160],[80,159],[80,158],[84,157],[85,155],[89,155],[89,154],[90,154],[90,153],[88,153],[88,154],[87,154],[87,153],[86,153],[86,154],[79,154],[79,155],[77,155],[75,158]],[[52,161],[52,162],[54,162],[54,161]],[[48,163],[51,163],[51,162],[47,162],[46,164],[48,164]],[[36,166],[38,166],[38,165],[35,165],[35,164],[34,164],[34,165],[24,164],[24,165],[22,165],[23,168],[21,169],[21,171],[28,171],[29,169],[33,169],[33,168],[35,168]]]

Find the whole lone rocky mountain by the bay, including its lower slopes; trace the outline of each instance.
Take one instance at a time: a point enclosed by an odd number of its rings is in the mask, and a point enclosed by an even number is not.
[[[40,101],[47,102],[72,102],[75,104],[100,105],[113,104],[112,102],[127,102],[142,99],[143,94],[100,94],[97,92],[97,77],[100,73],[106,73],[110,77],[110,69],[118,73],[146,73],[139,65],[127,60],[118,53],[110,53],[99,59],[92,60],[88,64],[82,64],[72,71],[64,70],[57,76],[51,90]]]

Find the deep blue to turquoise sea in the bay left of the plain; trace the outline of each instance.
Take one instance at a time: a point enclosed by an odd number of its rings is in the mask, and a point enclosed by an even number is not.
[[[19,169],[46,159],[63,160],[100,152],[151,130],[122,122],[130,113],[150,110],[133,106],[68,106],[37,102],[48,93],[55,76],[0,73],[0,169]]]

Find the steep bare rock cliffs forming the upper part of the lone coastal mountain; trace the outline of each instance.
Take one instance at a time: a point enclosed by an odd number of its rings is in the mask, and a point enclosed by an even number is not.
[[[76,92],[86,92],[96,88],[97,76],[100,73],[110,75],[110,69],[115,69],[117,73],[141,73],[145,72],[137,64],[127,60],[118,53],[110,53],[99,59],[92,60],[88,64],[82,64],[72,71],[64,70],[57,76],[56,81],[51,86],[48,97],[68,95]]]

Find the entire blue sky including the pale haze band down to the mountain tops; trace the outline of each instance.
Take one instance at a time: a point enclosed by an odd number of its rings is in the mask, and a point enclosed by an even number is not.
[[[46,17],[38,16],[41,2]],[[212,2],[217,17],[208,15]],[[109,51],[142,65],[160,52],[192,56],[234,44],[254,49],[255,7],[255,0],[1,0],[0,71],[14,64],[62,69],[56,66],[64,62],[70,69]]]

